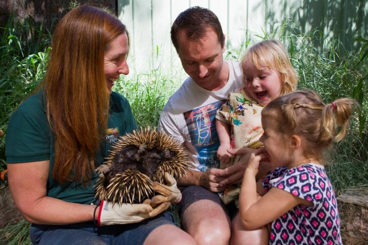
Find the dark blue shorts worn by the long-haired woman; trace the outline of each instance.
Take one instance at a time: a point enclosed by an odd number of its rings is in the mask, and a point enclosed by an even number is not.
[[[176,225],[169,212],[139,223],[101,226],[97,229],[93,222],[64,226],[32,224],[30,239],[32,244],[37,245],[143,245],[148,235],[162,225]]]

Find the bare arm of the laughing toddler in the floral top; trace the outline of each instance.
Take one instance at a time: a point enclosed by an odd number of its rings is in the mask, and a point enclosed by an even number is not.
[[[227,152],[230,149],[230,125],[216,119],[216,130],[220,141],[217,157],[222,164],[226,165],[230,163],[230,154]]]

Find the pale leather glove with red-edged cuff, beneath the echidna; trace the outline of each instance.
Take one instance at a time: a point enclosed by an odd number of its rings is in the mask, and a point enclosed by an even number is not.
[[[170,202],[162,202],[160,205],[152,208],[149,200],[147,201],[142,204],[124,203],[121,205],[112,205],[111,202],[101,201],[97,226],[138,223],[155,217],[170,207]]]

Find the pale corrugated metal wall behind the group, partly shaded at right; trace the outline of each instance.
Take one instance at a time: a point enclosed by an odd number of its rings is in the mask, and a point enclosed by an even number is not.
[[[210,8],[226,34],[226,48],[238,48],[257,34],[300,33],[315,29],[325,38],[340,38],[348,49],[359,48],[354,37],[367,37],[367,0],[117,0],[119,18],[131,36],[133,72],[159,65],[180,68],[170,40],[170,27],[180,12],[190,6]],[[285,28],[283,23],[288,22]],[[295,29],[293,29],[295,30]],[[319,35],[319,34],[318,34]],[[321,46],[316,41],[317,46]],[[174,69],[175,70],[175,69]]]

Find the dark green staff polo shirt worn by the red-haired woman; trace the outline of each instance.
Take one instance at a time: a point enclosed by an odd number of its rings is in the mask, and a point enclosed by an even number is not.
[[[59,184],[52,178],[54,165],[54,135],[51,132],[45,113],[42,90],[28,97],[11,115],[6,130],[5,157],[8,164],[50,160],[47,196],[67,202],[90,204],[95,202],[94,184],[97,174],[92,173],[88,184]],[[110,113],[105,139],[95,157],[96,165],[103,163],[108,156],[111,144],[119,136],[137,128],[128,100],[116,93],[110,95]],[[68,154],[68,153],[65,153]],[[37,171],[37,169],[34,169]]]

